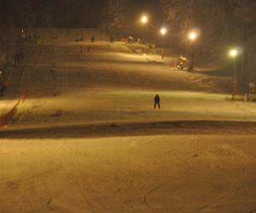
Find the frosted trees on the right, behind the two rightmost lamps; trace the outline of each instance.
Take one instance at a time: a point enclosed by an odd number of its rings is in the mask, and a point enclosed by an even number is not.
[[[198,52],[223,60],[227,49],[239,46],[239,81],[255,82],[256,2],[254,0],[160,0],[166,23],[185,37],[191,27],[199,27]]]

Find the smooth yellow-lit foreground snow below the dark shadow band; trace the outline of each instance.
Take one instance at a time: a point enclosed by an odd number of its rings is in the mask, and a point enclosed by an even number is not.
[[[1,212],[256,209],[255,135],[1,140]]]

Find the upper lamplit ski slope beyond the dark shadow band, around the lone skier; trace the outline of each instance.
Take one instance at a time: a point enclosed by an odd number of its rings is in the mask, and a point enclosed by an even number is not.
[[[15,69],[8,110],[28,96],[7,128],[102,122],[255,120],[253,103],[229,101],[229,78],[170,68],[166,57],[135,53],[141,45],[108,42],[38,43]],[[227,89],[228,88],[228,89]],[[161,110],[153,109],[154,95]]]

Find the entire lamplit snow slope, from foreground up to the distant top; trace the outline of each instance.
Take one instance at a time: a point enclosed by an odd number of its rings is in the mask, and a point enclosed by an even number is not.
[[[0,212],[256,212],[255,104],[140,48],[26,47],[0,101],[28,91],[0,130]]]

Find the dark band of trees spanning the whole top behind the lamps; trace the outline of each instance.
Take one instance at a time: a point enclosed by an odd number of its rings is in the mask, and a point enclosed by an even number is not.
[[[220,42],[251,41],[255,11],[255,0],[0,0],[0,27],[102,27],[139,34],[138,16],[148,12],[148,32],[156,34],[164,23],[181,38],[198,27],[202,49],[210,51]]]

